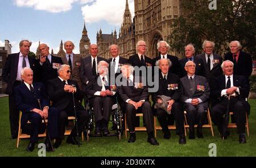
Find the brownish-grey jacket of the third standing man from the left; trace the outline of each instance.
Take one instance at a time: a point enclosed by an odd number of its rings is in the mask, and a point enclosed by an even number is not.
[[[64,64],[68,64],[67,57],[61,57],[61,60]],[[71,79],[75,80],[79,85],[79,88],[82,89],[82,81],[80,78],[80,66],[82,63],[82,57],[79,54],[73,54],[73,63],[72,63],[72,74]]]

